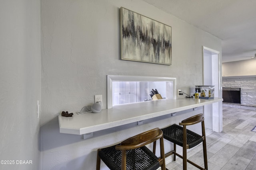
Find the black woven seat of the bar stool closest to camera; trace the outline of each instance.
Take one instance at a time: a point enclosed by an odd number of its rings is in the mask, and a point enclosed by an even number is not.
[[[116,145],[102,148],[98,154],[111,170],[121,169],[122,151],[115,149]],[[127,170],[156,170],[160,167],[158,158],[147,147],[126,150]]]

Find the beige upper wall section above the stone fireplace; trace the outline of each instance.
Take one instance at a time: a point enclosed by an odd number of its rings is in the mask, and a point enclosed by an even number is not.
[[[222,76],[256,75],[256,59],[222,63]]]

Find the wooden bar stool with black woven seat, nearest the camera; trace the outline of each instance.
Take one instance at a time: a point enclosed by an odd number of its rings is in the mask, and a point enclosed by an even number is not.
[[[160,158],[145,145],[160,139]],[[100,170],[102,160],[110,170],[165,170],[163,132],[155,128],[126,139],[119,145],[98,149],[96,170]]]

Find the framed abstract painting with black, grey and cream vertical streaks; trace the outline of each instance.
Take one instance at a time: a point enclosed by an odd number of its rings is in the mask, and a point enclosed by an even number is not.
[[[120,8],[122,60],[172,64],[172,27]]]

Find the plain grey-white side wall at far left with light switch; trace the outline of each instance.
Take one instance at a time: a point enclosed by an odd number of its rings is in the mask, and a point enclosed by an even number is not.
[[[1,170],[40,168],[40,0],[0,3]],[[41,102],[41,100],[40,100]],[[16,164],[19,160],[32,164]]]

